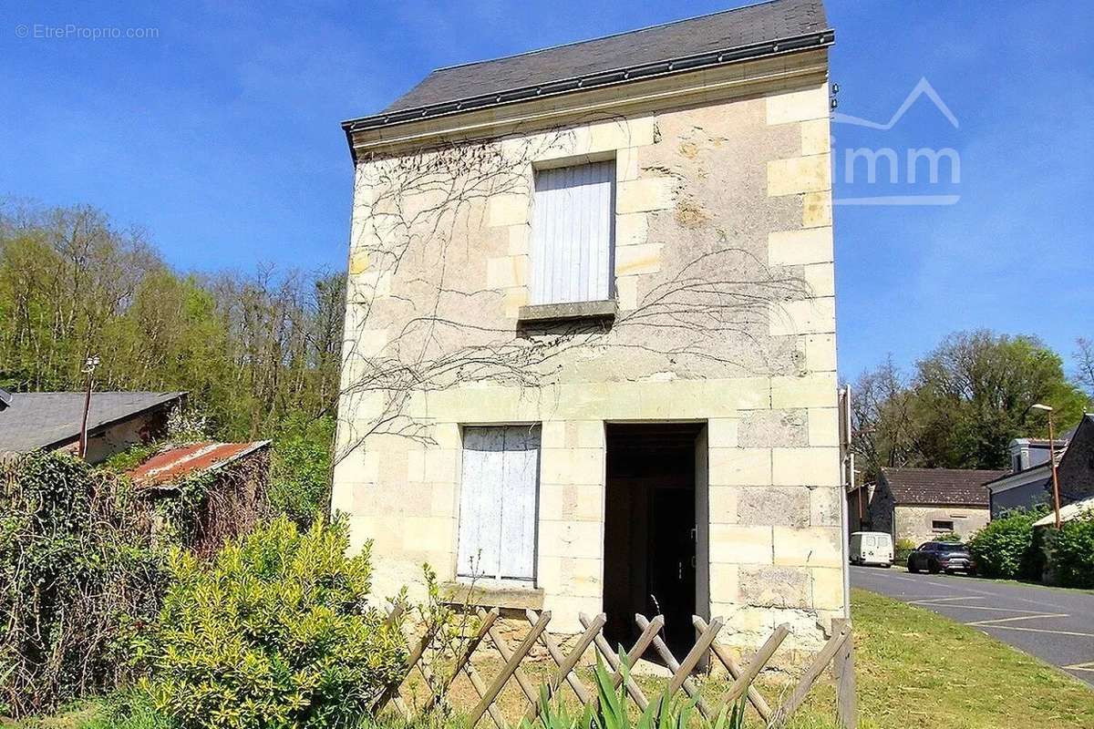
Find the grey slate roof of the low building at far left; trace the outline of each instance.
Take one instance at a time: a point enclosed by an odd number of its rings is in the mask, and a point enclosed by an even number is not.
[[[92,392],[88,431],[132,418],[185,392]],[[13,392],[0,410],[0,454],[63,445],[80,436],[83,392]]]

